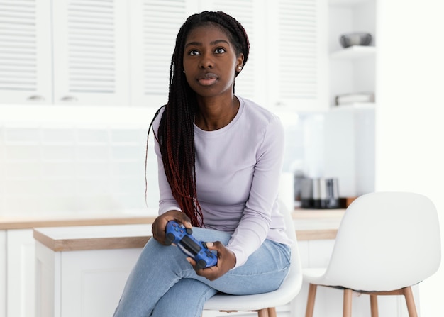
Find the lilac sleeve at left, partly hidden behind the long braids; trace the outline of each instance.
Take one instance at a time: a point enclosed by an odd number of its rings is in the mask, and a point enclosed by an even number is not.
[[[165,175],[165,169],[163,167],[163,160],[162,155],[160,154],[160,146],[159,142],[157,141],[157,130],[159,130],[160,125],[160,118],[162,118],[163,109],[160,111],[157,118],[155,118],[155,121],[152,125],[152,130],[155,131],[156,137],[154,138],[154,150],[157,156],[157,177],[159,182],[159,194],[160,194],[160,200],[159,200],[159,215],[162,215],[162,213],[165,213],[170,210],[178,210],[182,211],[179,208],[179,204],[177,204],[176,199],[174,199],[174,196],[172,196],[171,187],[168,183],[167,177]]]

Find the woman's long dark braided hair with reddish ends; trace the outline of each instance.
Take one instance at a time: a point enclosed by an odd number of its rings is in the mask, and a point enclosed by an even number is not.
[[[170,65],[170,88],[168,102],[160,119],[155,138],[160,145],[163,166],[172,195],[182,211],[189,216],[193,226],[203,226],[201,206],[196,194],[196,169],[194,149],[194,116],[197,111],[196,94],[189,87],[183,72],[184,46],[187,36],[196,27],[212,25],[221,28],[235,48],[236,55],[248,60],[250,43],[243,26],[221,11],[204,11],[187,18],[177,34],[176,46]],[[243,66],[242,65],[242,66]],[[235,77],[239,72],[236,70]],[[233,87],[234,92],[234,87]],[[162,108],[162,107],[161,107]],[[160,113],[157,111],[152,123]],[[155,133],[155,131],[153,131]]]

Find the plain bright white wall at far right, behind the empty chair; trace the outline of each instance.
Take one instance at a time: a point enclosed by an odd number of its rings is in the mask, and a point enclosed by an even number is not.
[[[375,187],[431,198],[444,236],[444,4],[397,0],[377,6]],[[421,316],[444,316],[443,281],[441,265],[420,284]]]

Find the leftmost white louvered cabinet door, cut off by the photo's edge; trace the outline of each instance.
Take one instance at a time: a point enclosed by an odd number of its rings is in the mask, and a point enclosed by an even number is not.
[[[1,104],[52,103],[50,0],[0,0]]]

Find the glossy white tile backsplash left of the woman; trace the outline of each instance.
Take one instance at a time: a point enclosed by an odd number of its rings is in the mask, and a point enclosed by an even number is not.
[[[0,216],[146,209],[145,142],[143,128],[0,123]],[[155,155],[149,162],[155,207]]]

